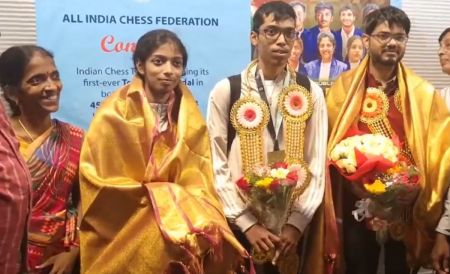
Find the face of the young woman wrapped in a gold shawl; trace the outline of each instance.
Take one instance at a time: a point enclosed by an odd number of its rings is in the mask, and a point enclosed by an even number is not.
[[[183,55],[171,41],[162,44],[136,68],[144,80],[144,88],[156,97],[172,92],[183,73]]]

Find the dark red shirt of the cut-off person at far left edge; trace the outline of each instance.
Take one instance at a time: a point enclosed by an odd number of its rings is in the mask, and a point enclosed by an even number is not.
[[[27,230],[31,183],[19,144],[0,103],[0,273],[18,273]]]

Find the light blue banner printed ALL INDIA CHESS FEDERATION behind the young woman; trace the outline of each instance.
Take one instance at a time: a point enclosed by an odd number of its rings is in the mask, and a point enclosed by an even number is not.
[[[175,32],[188,51],[182,81],[203,113],[214,84],[250,56],[248,2],[209,0],[36,1],[37,42],[55,55],[64,89],[56,118],[84,129],[111,92],[135,75],[137,39]]]

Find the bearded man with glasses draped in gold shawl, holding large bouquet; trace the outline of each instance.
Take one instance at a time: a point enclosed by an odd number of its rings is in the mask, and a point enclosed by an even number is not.
[[[409,274],[428,263],[431,235],[441,215],[450,179],[450,117],[433,86],[401,62],[409,30],[408,16],[396,7],[370,13],[363,36],[368,57],[341,74],[327,94],[329,155],[358,130],[397,139],[397,157],[419,171],[420,193],[396,196],[399,215],[372,212],[359,222],[352,212],[355,202],[370,196],[330,167],[347,274],[375,274],[379,267],[386,274]]]

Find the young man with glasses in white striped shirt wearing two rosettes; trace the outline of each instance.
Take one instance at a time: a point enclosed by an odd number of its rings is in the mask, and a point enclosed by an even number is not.
[[[327,112],[323,93],[317,84],[295,73],[288,66],[288,58],[297,37],[295,16],[293,8],[281,1],[263,4],[255,12],[250,39],[257,49],[258,57],[241,74],[216,84],[210,94],[207,112],[216,188],[222,199],[225,215],[247,248],[264,252],[277,249],[281,253],[280,261],[289,255],[295,256],[297,244],[322,201],[325,180]],[[305,122],[306,131],[302,136],[286,133],[289,123],[279,109],[280,94],[288,88],[309,96],[308,100],[311,100],[308,105],[311,107],[311,115]],[[266,115],[269,120],[262,130],[252,131],[254,137],[250,142],[244,142],[241,139],[242,131],[235,129],[230,122],[232,106],[239,105],[244,98],[250,104],[264,104],[265,111],[261,114]],[[244,175],[247,158],[252,157],[247,153],[249,150],[258,151],[257,156],[264,159],[260,164],[267,164],[275,159],[283,161],[287,157],[287,140],[292,141],[289,145],[304,147],[305,155],[292,157],[303,159],[304,156],[311,179],[304,192],[293,202],[281,234],[277,235],[266,229],[248,210],[238,194],[235,182]],[[257,145],[258,142],[261,146]],[[291,266],[295,267],[295,264]],[[298,269],[294,269],[292,273],[297,271]],[[268,262],[259,267],[257,273],[278,272]]]

